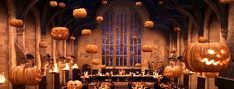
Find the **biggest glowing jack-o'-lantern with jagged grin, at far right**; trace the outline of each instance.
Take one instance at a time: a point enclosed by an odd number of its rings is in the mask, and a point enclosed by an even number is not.
[[[229,60],[225,43],[191,43],[185,51],[186,67],[194,72],[219,72]]]

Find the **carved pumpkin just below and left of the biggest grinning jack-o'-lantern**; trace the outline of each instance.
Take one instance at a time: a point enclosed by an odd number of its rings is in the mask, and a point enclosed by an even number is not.
[[[167,78],[180,77],[181,74],[182,74],[182,67],[180,65],[166,66],[163,72],[163,75],[166,76]]]

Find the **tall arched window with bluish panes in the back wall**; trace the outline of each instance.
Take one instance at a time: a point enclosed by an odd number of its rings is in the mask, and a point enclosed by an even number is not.
[[[116,6],[104,14],[102,64],[134,66],[141,63],[142,19],[127,6]]]

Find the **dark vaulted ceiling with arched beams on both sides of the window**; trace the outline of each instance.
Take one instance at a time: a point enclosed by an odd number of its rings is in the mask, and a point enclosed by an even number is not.
[[[42,34],[53,26],[66,26],[74,33],[80,34],[82,28],[96,28],[96,13],[102,5],[101,0],[56,0],[64,2],[65,8],[50,7],[50,0],[15,0],[17,18],[24,19],[32,8],[38,9],[41,18]],[[108,3],[114,0],[108,0]],[[196,29],[202,34],[204,13],[206,8],[211,8],[221,22],[223,29],[227,28],[228,5],[221,4],[219,0],[129,0],[141,1],[149,12],[150,19],[157,25],[155,28],[166,27],[173,29],[181,27],[187,33],[188,22],[192,21]],[[75,19],[72,16],[74,8],[83,7],[88,11],[85,19]],[[169,31],[166,31],[169,32]]]

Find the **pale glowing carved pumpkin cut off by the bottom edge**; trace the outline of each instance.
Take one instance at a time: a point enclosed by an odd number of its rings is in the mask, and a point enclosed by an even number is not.
[[[81,81],[79,80],[75,80],[75,81],[68,81],[67,82],[67,89],[82,89],[83,84]]]

